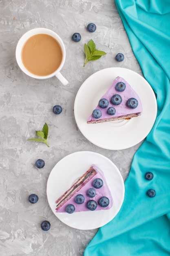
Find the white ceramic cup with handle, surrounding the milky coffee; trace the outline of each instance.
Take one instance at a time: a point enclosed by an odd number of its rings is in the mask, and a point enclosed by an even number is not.
[[[24,66],[24,64],[22,63],[22,47],[24,46],[25,42],[31,37],[34,36],[36,34],[47,34],[49,36],[52,36],[53,38],[55,38],[55,40],[57,40],[57,42],[60,44],[60,47],[62,49],[62,62],[60,64],[60,66],[57,68],[57,70],[55,70],[55,72],[53,72],[52,74],[49,74],[47,76],[38,76],[35,74],[32,74],[31,72],[29,72],[29,70],[26,69],[26,67]],[[64,76],[60,73],[65,59],[66,59],[66,49],[64,47],[64,43],[62,41],[62,39],[60,38],[60,36],[58,36],[55,32],[53,32],[50,29],[46,29],[46,28],[35,28],[35,29],[31,29],[29,31],[27,31],[18,41],[18,44],[16,46],[16,51],[15,51],[15,56],[16,56],[16,61],[18,63],[18,66],[20,67],[20,69],[27,74],[28,76],[31,76],[32,78],[36,78],[36,79],[48,79],[51,78],[53,76],[56,76],[64,85],[68,84],[68,81],[64,78]]]

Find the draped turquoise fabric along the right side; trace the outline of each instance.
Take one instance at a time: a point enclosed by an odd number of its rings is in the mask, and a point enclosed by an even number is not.
[[[170,256],[170,0],[116,0],[132,50],[157,95],[157,119],[133,157],[117,216],[84,256]],[[144,124],[145,125],[145,124]],[[154,177],[144,178],[147,171]],[[149,198],[148,189],[156,196]]]

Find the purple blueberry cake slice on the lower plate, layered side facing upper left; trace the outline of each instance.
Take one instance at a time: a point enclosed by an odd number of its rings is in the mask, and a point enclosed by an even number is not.
[[[93,164],[56,200],[57,213],[110,209],[113,199],[102,170]]]

